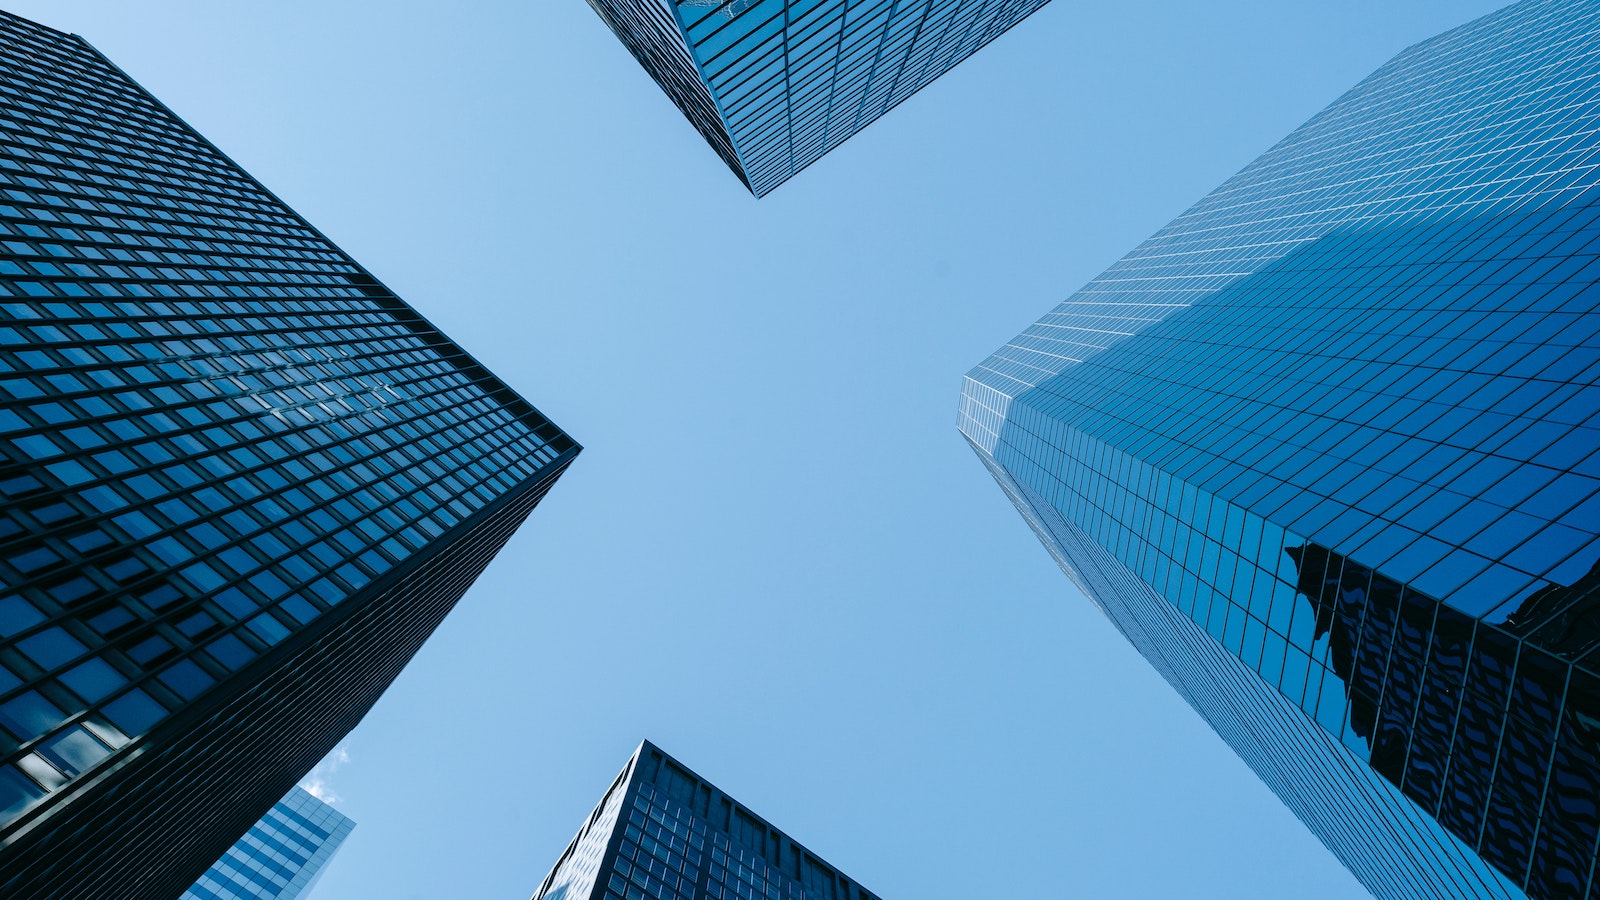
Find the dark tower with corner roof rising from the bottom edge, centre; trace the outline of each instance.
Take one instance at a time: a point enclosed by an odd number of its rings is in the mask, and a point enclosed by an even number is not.
[[[643,741],[533,900],[877,900]]]

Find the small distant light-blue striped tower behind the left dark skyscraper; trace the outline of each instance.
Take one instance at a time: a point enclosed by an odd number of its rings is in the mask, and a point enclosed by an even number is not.
[[[354,828],[339,810],[294,788],[178,900],[296,900],[310,894]]]

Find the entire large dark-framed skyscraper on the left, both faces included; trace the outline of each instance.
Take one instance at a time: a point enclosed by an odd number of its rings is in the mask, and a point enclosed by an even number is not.
[[[0,16],[0,897],[182,894],[576,453],[83,40]]]

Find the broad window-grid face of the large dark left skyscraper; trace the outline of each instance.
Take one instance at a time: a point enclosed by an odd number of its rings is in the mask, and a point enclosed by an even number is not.
[[[576,445],[0,14],[0,833]]]

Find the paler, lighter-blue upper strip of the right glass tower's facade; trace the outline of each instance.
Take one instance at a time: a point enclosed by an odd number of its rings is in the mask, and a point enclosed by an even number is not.
[[[1523,0],[1398,54],[974,367],[962,429],[990,450],[1013,397],[1333,231],[1582,195],[1597,19]]]

